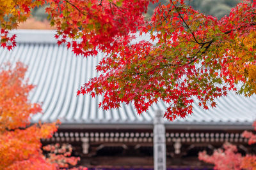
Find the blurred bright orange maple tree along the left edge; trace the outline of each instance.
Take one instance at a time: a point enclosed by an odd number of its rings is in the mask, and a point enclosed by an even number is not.
[[[14,68],[10,64],[0,68],[0,169],[59,169],[76,165],[79,158],[70,157],[70,145],[44,146],[50,156],[43,155],[40,139],[51,138],[57,125],[31,124],[31,116],[42,112],[42,108],[28,99],[34,86],[24,80],[26,70],[21,62]]]

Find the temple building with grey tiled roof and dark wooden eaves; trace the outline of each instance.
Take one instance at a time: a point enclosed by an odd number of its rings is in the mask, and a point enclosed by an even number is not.
[[[104,111],[102,97],[76,96],[76,91],[97,76],[95,67],[104,55],[83,58],[65,46],[58,46],[54,31],[19,30],[17,46],[0,48],[0,65],[24,62],[26,77],[36,85],[32,102],[42,102],[44,114],[32,122],[61,121],[58,132],[42,143],[70,143],[79,165],[95,169],[212,169],[198,160],[198,152],[208,153],[226,141],[239,152],[255,153],[255,147],[241,136],[253,130],[256,96],[243,97],[230,92],[207,111],[194,104],[193,114],[164,120],[166,103],[159,101],[147,113],[137,115],[132,104]],[[155,167],[154,167],[155,164]]]

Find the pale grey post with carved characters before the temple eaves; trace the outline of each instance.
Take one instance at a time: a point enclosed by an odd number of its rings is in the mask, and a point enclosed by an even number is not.
[[[166,169],[165,127],[161,111],[154,118],[154,170]]]

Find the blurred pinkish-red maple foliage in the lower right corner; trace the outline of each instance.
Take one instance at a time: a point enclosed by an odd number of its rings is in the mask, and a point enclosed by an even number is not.
[[[256,122],[253,123],[256,131]],[[256,135],[253,132],[244,131],[243,137],[248,139],[248,144],[256,143]],[[198,158],[204,162],[214,164],[214,169],[218,170],[240,170],[240,169],[256,169],[256,155],[237,153],[236,145],[225,143],[223,149],[214,150],[212,155],[208,155],[205,151],[198,154]]]

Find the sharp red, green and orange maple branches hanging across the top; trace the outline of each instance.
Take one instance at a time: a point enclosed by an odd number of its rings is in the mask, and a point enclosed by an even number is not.
[[[160,4],[150,20],[143,13],[157,0],[18,2],[0,3],[1,46],[13,48],[15,36],[8,31],[28,18],[30,8],[47,4],[59,45],[84,57],[106,53],[99,76],[77,91],[102,95],[104,110],[133,103],[141,114],[161,100],[170,105],[164,117],[172,121],[191,114],[193,103],[215,107],[228,90],[256,92],[256,1],[243,0],[220,20],[183,0]],[[134,43],[137,31],[150,40]]]

